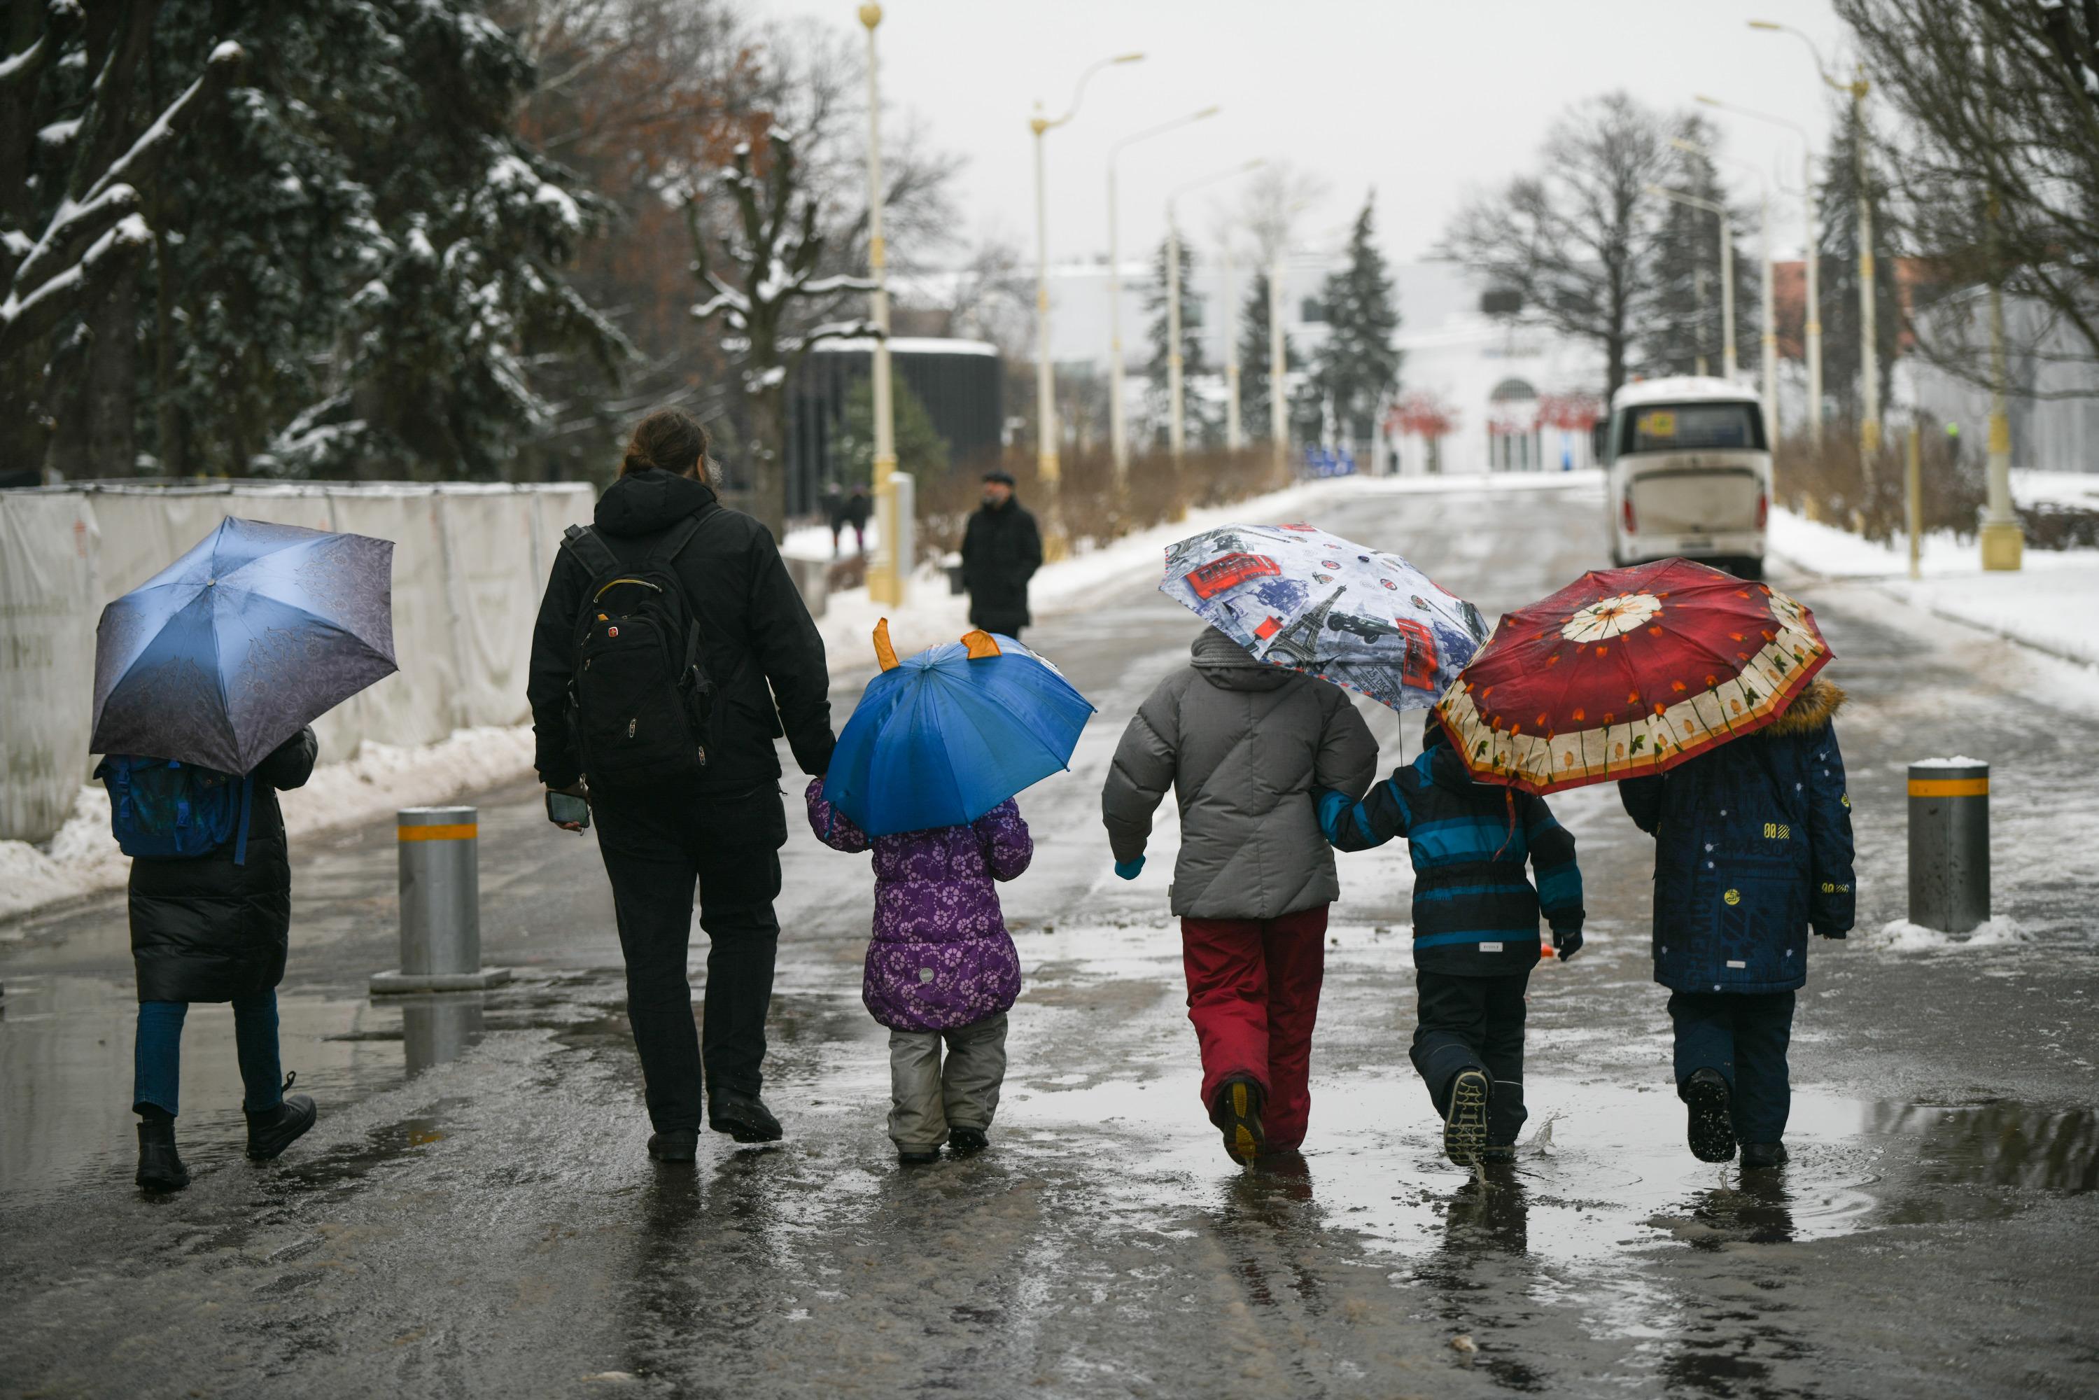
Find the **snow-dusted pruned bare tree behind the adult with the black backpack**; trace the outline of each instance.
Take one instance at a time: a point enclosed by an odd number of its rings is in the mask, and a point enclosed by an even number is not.
[[[743,397],[751,432],[751,506],[775,537],[787,531],[787,380],[819,340],[875,334],[873,321],[829,321],[798,330],[804,304],[825,306],[846,292],[871,292],[873,281],[848,273],[823,275],[829,237],[821,225],[817,195],[802,187],[796,139],[779,128],[766,132],[766,170],[751,166],[751,147],[739,145],[735,164],[718,181],[728,191],[735,216],[718,220],[709,233],[703,197],[686,201],[693,235],[693,275],[707,300],[693,306],[693,319],[720,317],[739,338]],[[712,258],[720,243],[724,258]],[[718,267],[735,269],[724,277]]]

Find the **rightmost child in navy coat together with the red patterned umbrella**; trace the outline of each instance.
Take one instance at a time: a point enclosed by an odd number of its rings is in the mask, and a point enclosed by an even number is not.
[[[1524,791],[1618,779],[1654,835],[1654,980],[1700,1161],[1780,1167],[1807,934],[1853,917],[1843,691],[1814,615],[1665,558],[1587,573],[1503,617],[1440,714],[1476,777]]]

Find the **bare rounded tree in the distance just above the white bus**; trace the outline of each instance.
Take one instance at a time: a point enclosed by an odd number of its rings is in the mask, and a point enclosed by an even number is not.
[[[1553,124],[1541,168],[1473,199],[1444,233],[1442,256],[1522,298],[1524,317],[1593,340],[1618,393],[1639,336],[1641,262],[1669,168],[1669,124],[1625,92],[1578,103]]]

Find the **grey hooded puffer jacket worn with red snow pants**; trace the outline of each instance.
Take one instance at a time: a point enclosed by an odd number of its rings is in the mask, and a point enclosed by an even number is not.
[[[1339,898],[1314,787],[1362,798],[1377,741],[1341,693],[1264,665],[1215,628],[1123,730],[1100,816],[1117,861],[1136,861],[1167,787],[1180,802],[1173,913],[1276,919]]]

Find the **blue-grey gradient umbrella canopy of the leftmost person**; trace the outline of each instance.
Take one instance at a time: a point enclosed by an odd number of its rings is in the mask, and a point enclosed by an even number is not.
[[[90,743],[248,772],[395,670],[390,539],[227,518],[103,609]]]

